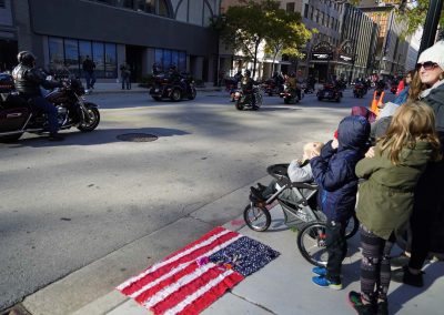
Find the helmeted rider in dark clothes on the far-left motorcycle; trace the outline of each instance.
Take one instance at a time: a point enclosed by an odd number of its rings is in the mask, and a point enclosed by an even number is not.
[[[59,123],[57,120],[57,109],[47,99],[41,95],[40,85],[47,90],[61,88],[62,83],[50,82],[46,75],[36,68],[36,57],[30,51],[21,51],[17,55],[19,64],[12,70],[16,90],[23,99],[32,100],[32,106],[48,114],[49,140],[61,141],[59,135]]]

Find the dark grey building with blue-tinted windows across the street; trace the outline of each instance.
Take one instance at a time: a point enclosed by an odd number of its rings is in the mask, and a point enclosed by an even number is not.
[[[41,67],[68,67],[81,74],[90,55],[97,77],[119,77],[127,61],[133,79],[157,62],[213,81],[218,37],[209,28],[220,0],[14,0],[18,50],[31,50]]]

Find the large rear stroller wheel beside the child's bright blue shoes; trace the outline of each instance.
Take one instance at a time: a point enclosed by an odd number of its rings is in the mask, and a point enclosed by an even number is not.
[[[297,248],[302,256],[315,266],[326,266],[329,254],[325,244],[326,224],[313,221],[297,233]]]

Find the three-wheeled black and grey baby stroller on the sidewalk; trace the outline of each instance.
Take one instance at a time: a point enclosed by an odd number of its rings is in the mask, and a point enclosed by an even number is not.
[[[269,209],[274,201],[282,207],[285,224],[289,216],[294,219],[297,228],[297,248],[311,264],[325,266],[327,253],[325,247],[326,217],[316,204],[317,185],[315,183],[292,183],[286,174],[289,164],[274,164],[266,172],[278,181],[280,189],[266,201],[258,201],[250,194],[250,204],[243,212],[246,225],[258,232],[266,231],[271,224]],[[292,190],[296,200],[286,197],[284,193]],[[347,224],[346,238],[352,237],[359,228],[359,222],[353,215]]]

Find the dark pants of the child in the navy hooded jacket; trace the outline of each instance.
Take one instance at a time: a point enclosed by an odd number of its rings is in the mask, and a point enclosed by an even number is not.
[[[326,264],[326,278],[332,282],[341,282],[342,261],[347,252],[345,240],[346,222],[327,221],[326,222],[326,252],[329,261]]]

